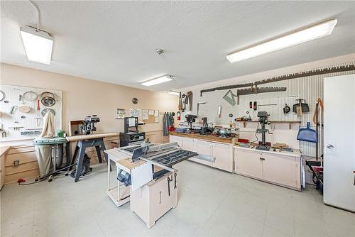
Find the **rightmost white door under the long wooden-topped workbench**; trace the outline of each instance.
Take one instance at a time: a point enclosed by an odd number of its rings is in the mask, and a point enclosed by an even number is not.
[[[233,171],[233,156],[229,145],[214,143],[212,152],[213,157],[216,159],[216,161],[212,163],[213,167],[229,172]]]

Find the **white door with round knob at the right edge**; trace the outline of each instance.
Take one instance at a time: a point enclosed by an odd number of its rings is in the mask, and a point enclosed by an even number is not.
[[[323,195],[355,211],[355,75],[324,78]]]

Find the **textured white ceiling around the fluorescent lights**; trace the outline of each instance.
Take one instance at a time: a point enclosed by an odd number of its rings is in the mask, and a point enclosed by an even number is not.
[[[355,1],[35,1],[55,38],[51,65],[28,62],[19,27],[35,26],[28,1],[1,1],[1,62],[153,90],[355,52]],[[226,53],[328,18],[332,35],[236,62]],[[165,53],[157,55],[155,48]],[[154,87],[140,82],[170,74]]]

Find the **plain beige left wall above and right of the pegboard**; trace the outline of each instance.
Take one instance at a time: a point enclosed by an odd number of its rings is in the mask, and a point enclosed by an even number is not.
[[[68,121],[80,120],[92,114],[97,114],[101,119],[101,122],[97,123],[98,132],[123,131],[123,120],[114,118],[117,108],[126,109],[126,113],[131,108],[159,109],[160,112],[178,109],[178,97],[163,92],[151,92],[4,63],[1,63],[0,83],[61,90],[62,128],[65,131]],[[138,98],[138,104],[131,102],[133,97]],[[162,129],[162,119],[160,123],[141,126],[142,131]]]

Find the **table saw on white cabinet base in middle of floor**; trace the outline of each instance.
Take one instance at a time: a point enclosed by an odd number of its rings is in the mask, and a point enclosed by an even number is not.
[[[116,185],[107,194],[116,206],[130,202],[130,209],[151,228],[178,205],[178,170],[173,165],[197,155],[178,143],[130,145],[105,150],[116,164]],[[108,162],[110,166],[110,162]]]

